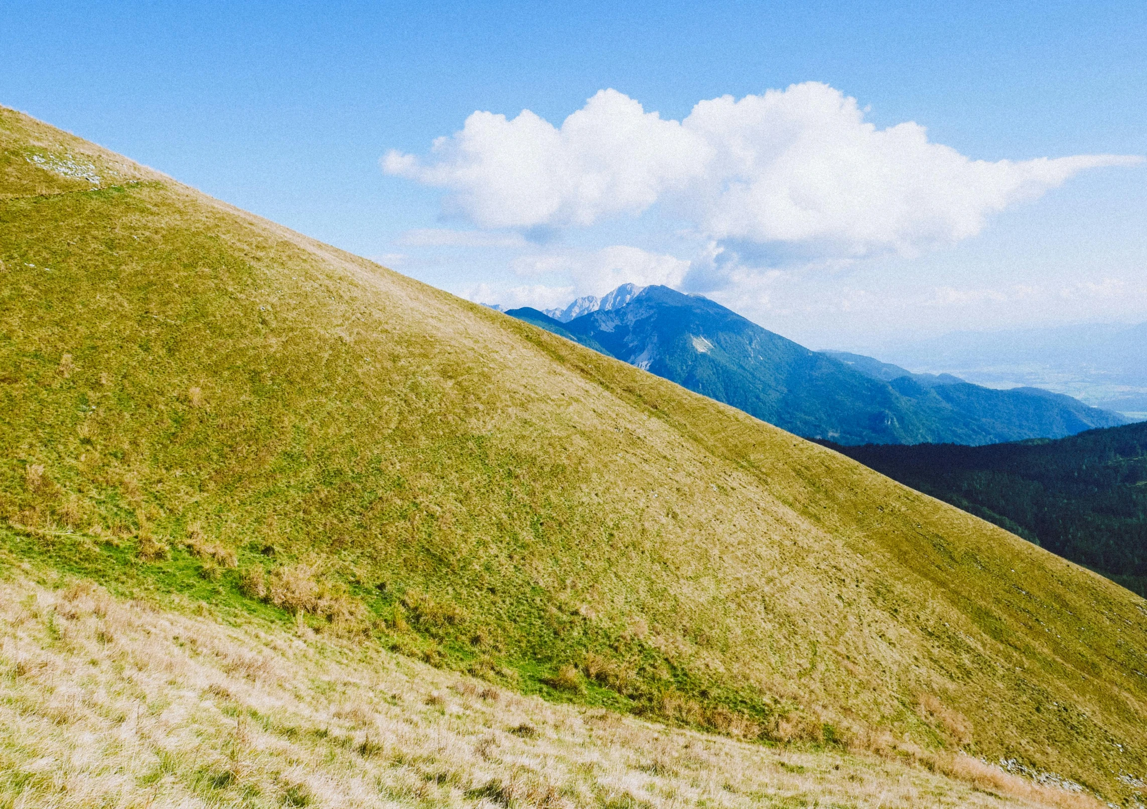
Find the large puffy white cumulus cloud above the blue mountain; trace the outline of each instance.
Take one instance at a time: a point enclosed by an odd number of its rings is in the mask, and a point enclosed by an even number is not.
[[[661,202],[705,239],[860,256],[954,243],[1079,171],[1141,160],[976,161],[915,123],[876,129],[855,99],[806,83],[702,101],[680,122],[612,90],[560,127],[474,112],[431,162],[390,151],[382,165],[445,188],[448,212],[483,228],[588,226]]]

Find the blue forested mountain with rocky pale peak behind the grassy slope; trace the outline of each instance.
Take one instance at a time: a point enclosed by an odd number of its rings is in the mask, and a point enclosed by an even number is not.
[[[797,435],[841,444],[989,444],[1126,423],[1046,390],[994,390],[860,355],[812,351],[669,287],[624,285],[551,313],[523,308],[507,314]]]

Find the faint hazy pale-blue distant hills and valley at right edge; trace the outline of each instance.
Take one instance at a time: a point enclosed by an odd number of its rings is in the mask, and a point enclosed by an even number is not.
[[[1147,418],[1147,322],[953,332],[881,349],[894,361],[992,387],[1036,386]]]

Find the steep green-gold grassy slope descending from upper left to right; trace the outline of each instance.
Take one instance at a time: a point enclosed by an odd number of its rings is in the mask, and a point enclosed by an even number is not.
[[[16,112],[0,139],[13,558],[733,734],[1147,775],[1128,591],[142,169],[55,188],[30,155],[114,158]]]

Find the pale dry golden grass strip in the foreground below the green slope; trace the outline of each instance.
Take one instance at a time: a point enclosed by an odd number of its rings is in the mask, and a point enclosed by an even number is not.
[[[194,612],[0,582],[0,806],[1098,806],[966,756],[953,779],[767,749]]]

